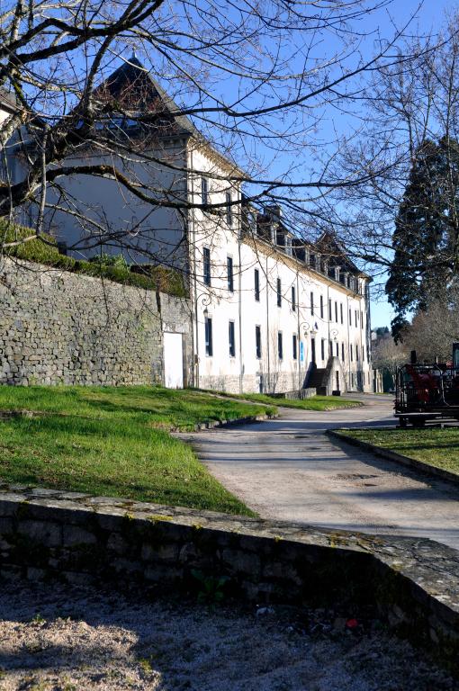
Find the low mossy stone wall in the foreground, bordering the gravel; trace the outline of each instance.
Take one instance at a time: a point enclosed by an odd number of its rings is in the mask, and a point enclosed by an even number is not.
[[[459,672],[459,552],[445,545],[55,490],[1,489],[4,577],[175,592],[207,586],[211,593],[225,576],[228,596],[257,603],[376,610]]]

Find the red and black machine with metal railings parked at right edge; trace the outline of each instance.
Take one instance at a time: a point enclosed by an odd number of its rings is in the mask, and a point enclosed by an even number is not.
[[[418,363],[416,351],[411,352],[410,364],[397,371],[395,416],[401,427],[424,426],[437,417],[459,419],[459,343],[447,363]]]

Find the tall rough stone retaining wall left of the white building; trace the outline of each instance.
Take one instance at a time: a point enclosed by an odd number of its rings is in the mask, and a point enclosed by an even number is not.
[[[4,259],[0,266],[0,383],[163,383],[163,331],[192,343],[186,300],[91,276]]]

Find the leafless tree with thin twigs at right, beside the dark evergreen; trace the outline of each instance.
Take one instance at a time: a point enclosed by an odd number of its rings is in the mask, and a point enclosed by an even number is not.
[[[362,184],[340,188],[322,204],[318,224],[337,230],[350,252],[371,266],[384,286],[386,272],[401,264],[424,243],[425,228],[413,233],[407,222],[407,247],[394,256],[393,232],[404,222],[401,207],[410,183],[410,173],[425,157],[428,142],[456,142],[459,139],[459,33],[457,14],[437,36],[411,38],[397,46],[391,65],[377,67],[373,84],[366,91],[358,136],[344,144],[336,162],[343,176],[360,170]],[[447,281],[457,275],[459,224],[455,144],[449,148],[441,174],[432,171],[429,184],[442,190],[441,205],[429,202],[426,216],[443,224],[447,243],[438,240],[441,251],[424,252],[413,268],[413,282],[428,272],[443,271]],[[365,173],[367,174],[365,178]],[[437,175],[437,176],[436,176]],[[440,177],[438,177],[440,175]],[[447,227],[447,228],[446,228]],[[438,236],[440,238],[440,236]],[[395,268],[397,268],[395,266]],[[443,279],[442,279],[443,280]]]

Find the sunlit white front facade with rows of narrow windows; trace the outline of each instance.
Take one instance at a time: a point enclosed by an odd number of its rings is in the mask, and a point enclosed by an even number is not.
[[[195,385],[232,392],[298,390],[311,379],[311,364],[325,370],[333,354],[339,361],[331,374],[337,378],[334,390],[373,390],[368,277],[355,271],[352,281],[345,273],[331,278],[293,256],[293,238],[277,247],[254,229],[242,229],[240,206],[225,206],[227,193],[234,202],[240,192],[221,179],[224,167],[196,148],[189,167],[200,172],[190,176],[190,198],[200,199],[207,172],[208,201],[222,205],[193,212]]]

